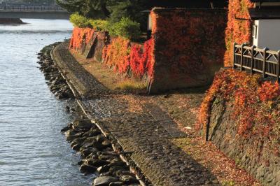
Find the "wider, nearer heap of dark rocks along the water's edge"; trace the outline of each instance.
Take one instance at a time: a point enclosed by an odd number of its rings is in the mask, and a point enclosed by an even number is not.
[[[139,185],[129,166],[113,150],[111,141],[90,120],[74,120],[62,132],[71,148],[80,152],[80,171],[99,176],[92,185]]]

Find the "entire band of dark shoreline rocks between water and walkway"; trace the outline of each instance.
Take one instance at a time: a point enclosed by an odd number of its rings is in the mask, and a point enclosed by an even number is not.
[[[61,131],[66,136],[73,150],[80,153],[81,160],[77,162],[80,172],[95,174],[97,178],[92,185],[150,185],[148,180],[137,179],[134,170],[137,166],[125,162],[122,148],[116,142],[112,143],[99,128],[90,122],[79,108],[75,96],[59,73],[59,69],[50,57],[50,51],[59,43],[48,45],[38,53],[39,68],[44,76],[50,91],[57,99],[67,100],[66,111],[75,114],[76,119],[67,124]],[[112,145],[113,144],[113,145]]]

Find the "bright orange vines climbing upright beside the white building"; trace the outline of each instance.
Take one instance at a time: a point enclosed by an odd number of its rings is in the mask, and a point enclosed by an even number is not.
[[[252,8],[250,0],[229,0],[228,27],[225,31],[225,66],[232,66],[233,43],[247,43],[251,40],[251,20],[248,8]],[[242,18],[239,20],[237,18]]]

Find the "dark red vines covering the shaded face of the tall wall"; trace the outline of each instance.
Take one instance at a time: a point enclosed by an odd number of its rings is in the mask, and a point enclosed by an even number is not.
[[[225,13],[207,10],[156,10],[151,14],[157,62],[169,66],[175,80],[194,78],[223,65],[225,55]],[[211,17],[211,19],[209,19]],[[209,50],[210,48],[213,50]]]

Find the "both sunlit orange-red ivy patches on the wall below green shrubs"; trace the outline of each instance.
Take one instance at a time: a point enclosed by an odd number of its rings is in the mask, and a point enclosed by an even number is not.
[[[81,50],[82,45],[90,42],[94,29],[82,29],[75,27],[69,44],[69,48]],[[99,35],[97,34],[99,37]],[[148,76],[153,78],[153,48],[154,41],[150,39],[140,45],[131,43],[125,38],[112,38],[111,43],[105,45],[102,52],[103,62],[109,68],[118,73],[128,73],[129,70],[136,78]]]

